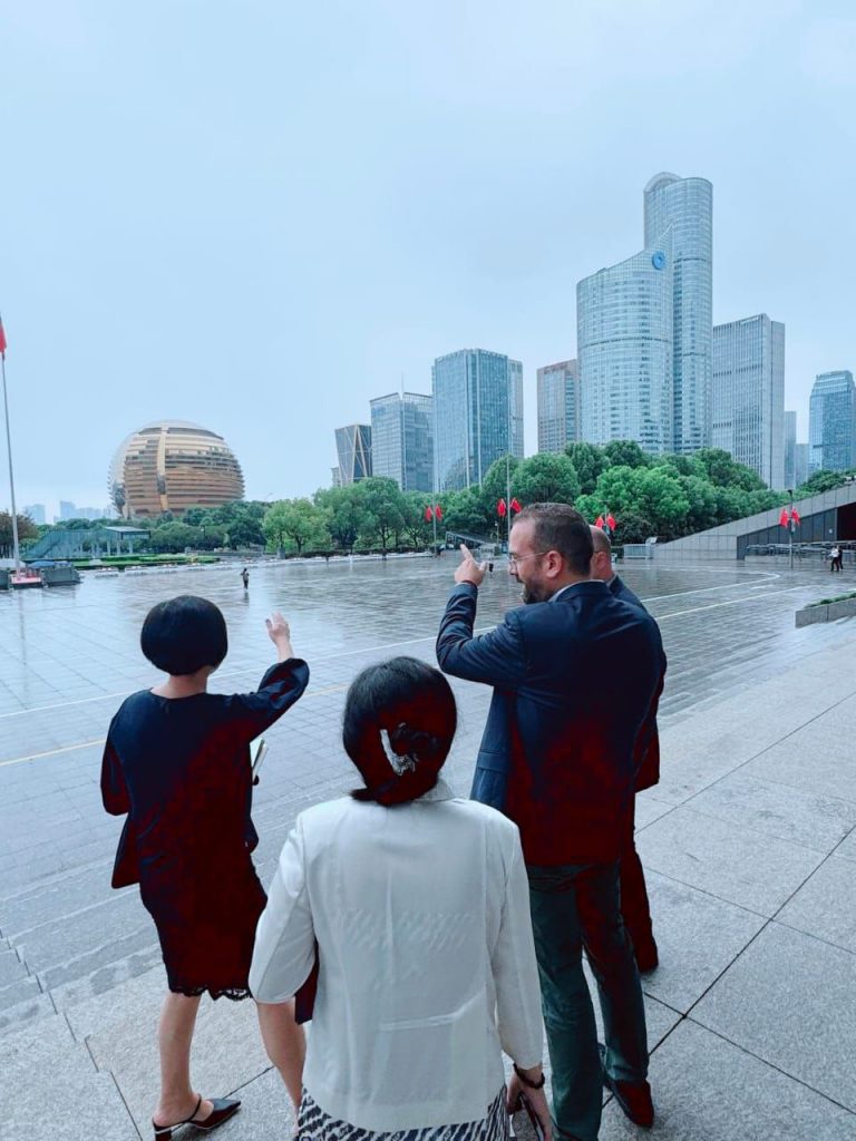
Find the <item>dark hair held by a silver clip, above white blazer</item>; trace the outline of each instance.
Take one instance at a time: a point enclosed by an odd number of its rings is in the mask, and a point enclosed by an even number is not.
[[[393,657],[356,675],[345,699],[342,742],[365,788],[355,800],[390,808],[433,788],[452,747],[458,709],[452,687],[439,672],[414,657]],[[401,771],[387,756],[386,731]]]

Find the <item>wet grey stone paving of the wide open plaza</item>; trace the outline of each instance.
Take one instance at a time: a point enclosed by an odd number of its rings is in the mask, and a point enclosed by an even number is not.
[[[267,881],[297,814],[355,784],[340,744],[354,674],[394,653],[434,661],[455,561],[260,564],[249,594],[229,565],[0,596],[0,1138],[41,1136],[46,1100],[58,1106],[46,1136],[146,1135],[163,972],[136,889],[110,888],[122,820],[104,815],[98,776],[110,718],[153,683],[138,648],[147,609],[184,592],[224,609],[231,650],[212,688],[255,688],[274,608],[309,661],[309,689],[267,735],[256,790]],[[794,629],[793,612],[829,592],[823,570],[621,573],[669,655],[663,780],[637,808],[661,952],[644,980],[654,1134],[853,1136],[856,624]],[[488,578],[478,628],[517,597],[501,570]],[[490,691],[453,688],[446,775],[466,795]],[[224,1139],[290,1135],[249,1004],[203,1003],[194,1073],[244,1098]],[[609,1102],[601,1136],[631,1133]]]

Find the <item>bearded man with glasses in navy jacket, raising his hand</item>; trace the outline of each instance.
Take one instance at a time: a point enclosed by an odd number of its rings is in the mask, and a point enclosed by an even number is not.
[[[660,632],[644,610],[591,581],[591,532],[566,504],[518,516],[509,573],[526,605],[481,637],[473,628],[484,567],[462,550],[437,659],[446,673],[494,687],[473,796],[520,830],[557,1136],[596,1141],[603,1084],[637,1124],[654,1119],[619,860],[637,738],[660,678]],[[600,1052],[583,946],[604,1017]]]

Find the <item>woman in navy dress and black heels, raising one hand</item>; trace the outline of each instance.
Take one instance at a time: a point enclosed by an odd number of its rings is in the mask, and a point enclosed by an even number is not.
[[[202,994],[251,997],[253,936],[266,896],[250,855],[258,835],[249,745],[309,680],[306,662],[293,655],[288,622],[275,613],[266,624],[277,661],[258,690],[209,694],[208,679],[228,648],[223,614],[191,594],[154,606],[140,646],[168,678],[126,698],[104,750],[104,807],[128,814],[113,887],[139,883],[167,968],[158,1033],[161,1094],[152,1122],[160,1141],[178,1125],[213,1130],[241,1104],[193,1090],[191,1042]],[[293,1006],[259,1004],[258,1014],[268,1055],[297,1104],[305,1047]]]

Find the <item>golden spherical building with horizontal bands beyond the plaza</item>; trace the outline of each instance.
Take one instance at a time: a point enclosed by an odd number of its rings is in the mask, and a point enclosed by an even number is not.
[[[110,497],[124,518],[243,499],[244,477],[226,440],[200,424],[163,420],[122,443],[110,466]]]

